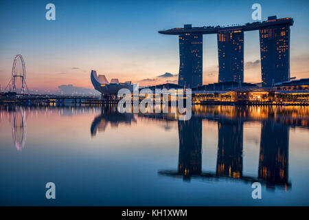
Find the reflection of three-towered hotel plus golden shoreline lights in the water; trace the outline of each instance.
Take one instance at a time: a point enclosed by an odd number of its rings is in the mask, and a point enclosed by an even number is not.
[[[278,117],[268,107],[252,114],[251,108],[204,107],[195,111],[191,120],[179,121],[179,166],[178,170],[160,170],[159,175],[203,179],[229,178],[246,182],[260,181],[267,188],[282,186],[290,188],[288,181],[288,137],[290,126],[304,126],[306,122],[293,117]],[[231,111],[228,111],[231,110]],[[262,110],[262,111],[261,111]],[[276,109],[277,111],[277,109]],[[308,115],[307,115],[308,116]],[[202,119],[218,122],[218,152],[216,172],[202,170]],[[306,117],[305,117],[306,118]],[[243,124],[248,120],[262,120],[258,177],[242,173]],[[296,119],[296,120],[295,120]],[[304,117],[303,117],[304,119]]]

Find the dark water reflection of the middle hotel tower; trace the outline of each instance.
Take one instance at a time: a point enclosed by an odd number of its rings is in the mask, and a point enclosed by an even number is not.
[[[242,177],[243,122],[221,119],[218,121],[218,155],[216,175]]]

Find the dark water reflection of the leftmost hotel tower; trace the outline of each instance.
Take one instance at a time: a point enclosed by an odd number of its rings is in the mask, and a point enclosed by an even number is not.
[[[180,120],[179,131],[179,173],[183,179],[191,175],[201,174],[202,171],[202,120]]]

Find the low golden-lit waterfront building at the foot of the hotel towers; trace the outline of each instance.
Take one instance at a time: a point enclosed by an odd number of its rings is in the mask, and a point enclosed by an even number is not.
[[[258,87],[252,83],[222,82],[192,88],[192,102],[264,102],[268,104],[309,104],[309,78]]]

